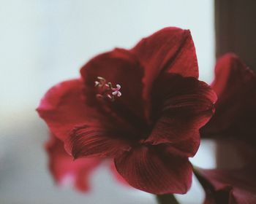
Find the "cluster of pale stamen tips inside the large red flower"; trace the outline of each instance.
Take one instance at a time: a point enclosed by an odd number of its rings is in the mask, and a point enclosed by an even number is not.
[[[121,96],[121,92],[119,91],[121,89],[121,85],[113,87],[111,82],[106,82],[106,79],[101,76],[97,76],[95,87],[99,89],[99,93],[96,95],[97,98],[115,101],[116,97]]]

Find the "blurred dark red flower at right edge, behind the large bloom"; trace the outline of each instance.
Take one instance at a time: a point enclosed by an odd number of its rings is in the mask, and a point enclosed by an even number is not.
[[[236,169],[197,168],[195,173],[206,189],[206,204],[256,203],[256,76],[233,54],[220,58],[215,71],[212,88],[218,95],[216,114],[202,128],[202,136],[238,140],[238,152],[246,165]]]

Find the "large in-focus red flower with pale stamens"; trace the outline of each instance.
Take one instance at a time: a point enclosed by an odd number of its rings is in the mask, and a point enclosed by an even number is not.
[[[132,50],[98,55],[80,73],[82,79],[51,88],[37,109],[67,152],[113,157],[118,173],[143,191],[187,192],[188,157],[216,101],[197,80],[189,31],[162,29]]]

